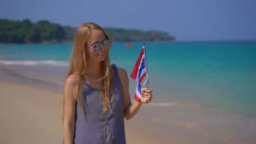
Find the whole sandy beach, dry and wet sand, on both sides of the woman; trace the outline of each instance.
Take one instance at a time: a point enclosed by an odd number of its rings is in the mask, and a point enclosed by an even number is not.
[[[13,67],[0,65],[0,143],[60,144],[61,86],[22,77]],[[125,120],[125,131],[128,144],[253,144],[255,124],[241,115],[176,102],[143,105]]]

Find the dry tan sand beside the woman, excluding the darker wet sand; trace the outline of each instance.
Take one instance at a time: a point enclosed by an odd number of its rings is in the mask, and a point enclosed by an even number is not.
[[[60,96],[26,85],[0,82],[1,144],[60,144]],[[128,144],[149,144],[146,136],[126,129]]]

